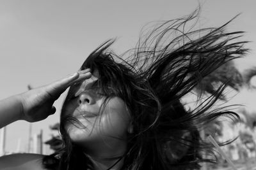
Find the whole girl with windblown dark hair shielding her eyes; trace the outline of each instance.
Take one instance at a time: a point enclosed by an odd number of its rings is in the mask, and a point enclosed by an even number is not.
[[[63,148],[48,156],[1,157],[1,169],[199,169],[200,162],[214,162],[202,157],[212,149],[199,131],[221,115],[236,117],[212,109],[227,82],[193,110],[180,99],[242,57],[246,42],[234,41],[243,32],[225,32],[227,24],[186,31],[195,17],[160,22],[129,56],[110,52],[113,41],[107,41],[76,74],[1,101],[1,127],[36,122],[55,112],[52,104],[70,87],[60,118]]]

